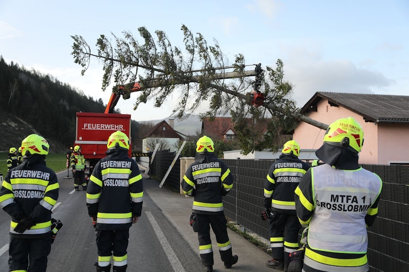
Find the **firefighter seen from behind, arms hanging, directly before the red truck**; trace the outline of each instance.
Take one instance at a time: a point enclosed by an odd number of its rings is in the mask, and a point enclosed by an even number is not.
[[[127,268],[129,228],[142,212],[143,183],[137,162],[128,157],[129,139],[125,133],[112,133],[107,157],[95,166],[86,193],[88,214],[97,232],[97,272]]]

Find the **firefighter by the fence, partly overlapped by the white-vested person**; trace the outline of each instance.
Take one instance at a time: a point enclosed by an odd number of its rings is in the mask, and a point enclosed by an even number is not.
[[[299,248],[298,233],[301,225],[296,214],[294,190],[301,178],[310,168],[301,161],[300,146],[294,141],[283,145],[279,159],[271,164],[264,184],[264,211],[262,220],[269,219],[270,245],[272,259],[266,266],[287,270],[289,254]]]

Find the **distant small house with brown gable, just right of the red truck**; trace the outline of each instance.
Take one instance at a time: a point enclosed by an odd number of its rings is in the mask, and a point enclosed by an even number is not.
[[[147,152],[148,148],[154,148],[157,143],[160,144],[160,150],[169,149],[170,152],[177,151],[177,146],[180,140],[187,139],[183,133],[174,130],[174,120],[169,119],[169,123],[165,120],[158,122],[142,140],[142,150]],[[153,151],[153,150],[150,150]]]

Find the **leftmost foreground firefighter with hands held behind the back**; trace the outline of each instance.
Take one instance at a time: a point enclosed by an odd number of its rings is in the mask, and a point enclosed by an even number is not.
[[[46,166],[50,145],[31,134],[21,142],[22,163],[11,169],[0,189],[0,207],[11,216],[9,271],[46,271],[51,251],[51,209],[58,180]]]

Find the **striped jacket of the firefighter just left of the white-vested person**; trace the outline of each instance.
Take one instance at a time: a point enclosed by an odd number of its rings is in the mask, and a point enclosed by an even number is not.
[[[279,160],[271,164],[264,184],[264,207],[272,210],[296,214],[294,191],[301,178],[310,168],[294,155],[281,154]]]

